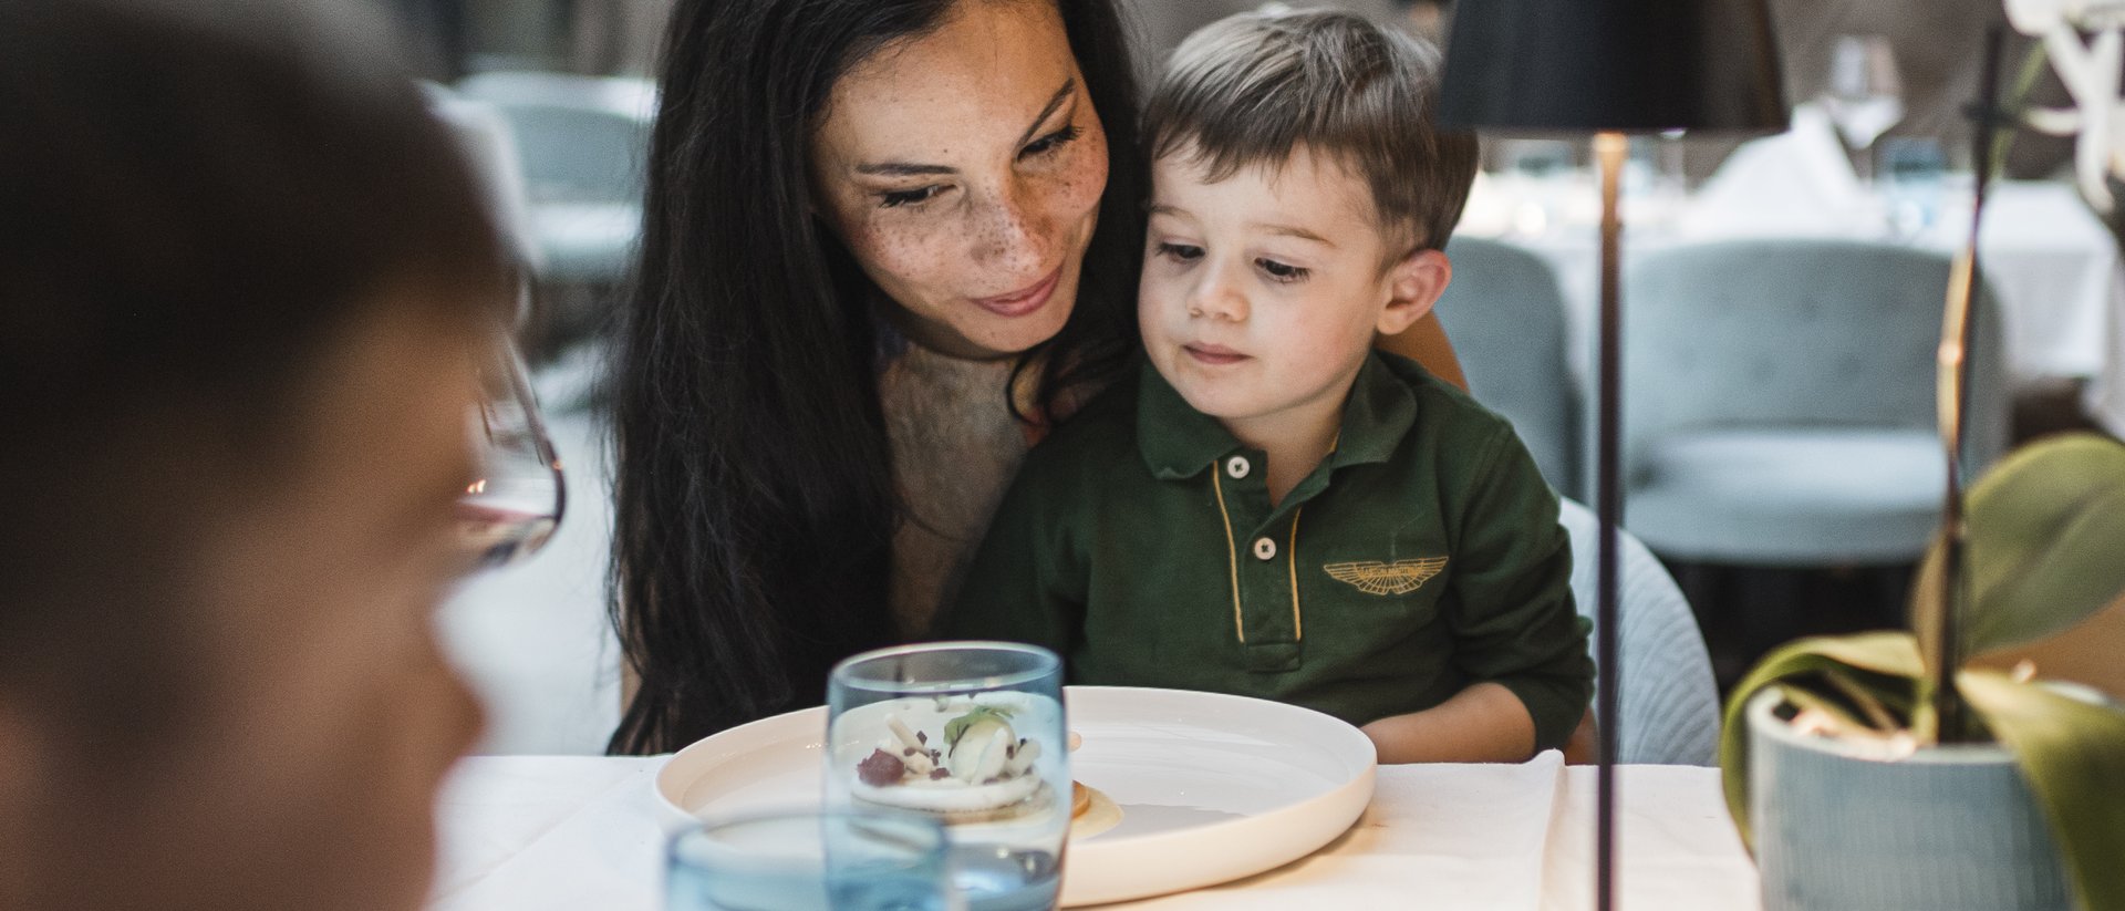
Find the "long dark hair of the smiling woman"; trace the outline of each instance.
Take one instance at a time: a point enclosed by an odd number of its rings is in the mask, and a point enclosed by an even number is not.
[[[954,2],[992,0],[682,0],[672,17],[614,386],[612,620],[640,688],[612,752],[816,705],[835,660],[895,637],[882,293],[812,214],[808,151],[835,81]],[[1069,323],[1020,357],[1041,363],[1043,414],[1135,350],[1145,181],[1114,2],[1056,2],[1114,159]]]

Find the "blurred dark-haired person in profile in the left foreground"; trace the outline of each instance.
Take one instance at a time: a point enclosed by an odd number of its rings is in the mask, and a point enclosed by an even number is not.
[[[0,4],[0,909],[412,909],[506,270],[389,53]]]

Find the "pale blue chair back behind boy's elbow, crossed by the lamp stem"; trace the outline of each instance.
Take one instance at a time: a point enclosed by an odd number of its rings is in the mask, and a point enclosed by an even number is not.
[[[1558,525],[1572,539],[1572,599],[1594,620],[1598,520],[1570,499]],[[1621,714],[1617,762],[1717,764],[1719,686],[1683,590],[1630,531],[1617,529]],[[1592,648],[1592,643],[1590,643]],[[1606,720],[1602,720],[1606,724]]]

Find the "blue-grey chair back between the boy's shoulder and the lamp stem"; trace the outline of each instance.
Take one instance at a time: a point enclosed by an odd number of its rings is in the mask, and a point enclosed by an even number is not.
[[[1434,312],[1468,391],[1513,423],[1549,486],[1577,497],[1579,384],[1564,357],[1558,276],[1534,253],[1496,240],[1454,238],[1447,257],[1454,282]]]

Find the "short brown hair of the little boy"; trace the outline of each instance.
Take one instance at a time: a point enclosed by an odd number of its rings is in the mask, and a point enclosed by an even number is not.
[[[1381,229],[1439,248],[1454,234],[1477,142],[1441,132],[1439,49],[1334,11],[1241,13],[1203,25],[1143,110],[1154,157],[1190,153],[1211,181],[1277,168],[1298,147],[1339,159],[1373,191]]]

